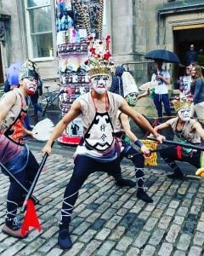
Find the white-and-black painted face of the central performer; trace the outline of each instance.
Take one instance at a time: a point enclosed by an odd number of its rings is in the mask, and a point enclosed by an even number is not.
[[[99,75],[91,79],[91,84],[97,93],[104,94],[105,90],[108,90],[109,88],[110,78],[109,76]]]

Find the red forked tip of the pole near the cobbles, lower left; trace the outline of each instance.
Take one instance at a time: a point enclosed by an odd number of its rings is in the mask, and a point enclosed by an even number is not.
[[[22,236],[26,235],[26,233],[29,231],[29,227],[33,227],[39,232],[41,231],[41,224],[39,223],[39,219],[37,218],[37,212],[31,199],[29,199],[26,204],[26,214],[21,227]]]

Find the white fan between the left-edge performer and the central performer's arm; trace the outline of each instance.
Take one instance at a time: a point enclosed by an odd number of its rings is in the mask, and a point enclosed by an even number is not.
[[[43,119],[33,127],[32,137],[38,141],[47,141],[54,131],[54,123],[50,119]]]

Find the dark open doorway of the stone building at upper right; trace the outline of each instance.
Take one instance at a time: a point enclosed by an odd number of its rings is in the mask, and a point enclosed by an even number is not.
[[[174,39],[174,51],[178,55],[181,63],[185,66],[185,53],[190,49],[190,44],[195,45],[195,50],[199,52],[200,49],[204,49],[204,24],[199,25],[198,28],[178,29],[173,31]],[[203,27],[202,27],[203,26]],[[190,27],[190,26],[189,26]],[[181,26],[182,28],[182,26]],[[201,64],[201,63],[199,63]],[[179,76],[184,75],[184,67],[175,65],[174,67],[174,80],[178,79]],[[174,89],[177,84],[174,84]]]

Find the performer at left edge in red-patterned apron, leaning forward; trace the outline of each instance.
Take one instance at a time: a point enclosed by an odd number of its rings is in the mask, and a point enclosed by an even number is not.
[[[24,143],[24,136],[31,131],[24,127],[27,114],[26,96],[37,90],[38,73],[36,64],[26,61],[20,68],[20,88],[10,90],[0,99],[0,161],[14,177],[29,189],[39,167],[34,155]],[[4,169],[2,172],[8,175]],[[9,177],[7,212],[3,233],[16,238],[21,236],[17,218],[18,204],[24,201],[24,191]]]

